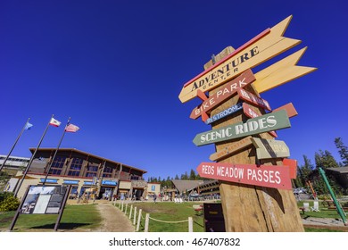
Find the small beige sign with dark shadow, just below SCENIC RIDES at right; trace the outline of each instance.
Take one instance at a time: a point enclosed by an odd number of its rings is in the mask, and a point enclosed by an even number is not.
[[[286,158],[290,156],[289,148],[281,140],[253,137],[253,146],[259,160],[271,158]]]

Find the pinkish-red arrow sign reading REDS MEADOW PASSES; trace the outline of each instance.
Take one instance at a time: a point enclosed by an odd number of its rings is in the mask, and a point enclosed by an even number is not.
[[[292,189],[287,166],[202,162],[199,176],[260,187]]]

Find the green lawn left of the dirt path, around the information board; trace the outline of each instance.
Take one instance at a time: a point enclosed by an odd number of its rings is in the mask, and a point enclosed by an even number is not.
[[[0,213],[0,231],[9,229],[15,212]],[[57,214],[20,214],[12,231],[52,231]],[[62,214],[59,230],[91,230],[100,225],[101,217],[94,204],[67,205]]]

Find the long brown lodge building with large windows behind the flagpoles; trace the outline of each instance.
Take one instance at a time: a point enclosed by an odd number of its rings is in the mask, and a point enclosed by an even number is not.
[[[34,154],[35,148],[29,148],[29,150]],[[45,185],[71,185],[70,197],[81,196],[87,189],[93,190],[96,198],[108,200],[121,196],[140,199],[147,195],[148,184],[143,179],[146,173],[144,170],[75,148],[58,149],[54,157],[55,150],[56,148],[37,149],[27,175],[20,189],[17,190],[18,197],[24,196],[29,185],[44,183]],[[22,176],[23,171],[19,171],[10,179],[10,185],[6,191],[16,190]]]

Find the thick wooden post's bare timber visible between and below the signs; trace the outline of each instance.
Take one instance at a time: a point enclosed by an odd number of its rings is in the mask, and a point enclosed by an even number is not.
[[[249,87],[247,90],[257,95],[253,87]],[[210,95],[213,95],[215,92],[216,90],[212,90]],[[212,110],[211,116],[236,104],[238,97],[234,96]],[[253,107],[254,111],[258,111],[260,114],[263,112],[261,109],[255,106]],[[212,129],[219,129],[229,124],[245,121],[246,119],[247,117],[243,112],[236,112],[236,114],[232,114],[227,119],[213,123]],[[262,133],[260,137],[271,138],[268,133]],[[227,146],[236,144],[239,140],[237,138],[232,141],[217,143],[215,144],[216,151],[219,152]],[[249,146],[218,162],[282,165],[281,159],[256,162],[255,151],[253,146]],[[220,181],[220,195],[225,217],[225,227],[229,232],[302,232],[304,230],[292,190],[280,190],[270,187],[256,187]]]

